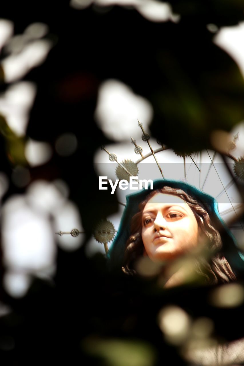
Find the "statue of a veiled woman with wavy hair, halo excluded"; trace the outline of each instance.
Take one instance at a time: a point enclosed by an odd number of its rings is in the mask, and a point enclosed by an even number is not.
[[[155,181],[153,191],[127,196],[109,252],[112,265],[119,263],[123,272],[136,275],[138,261],[148,257],[155,266],[162,264],[164,287],[171,287],[185,282],[182,259],[189,256],[193,277],[198,274],[207,284],[236,280],[243,271],[243,254],[213,197],[185,182],[165,179]]]

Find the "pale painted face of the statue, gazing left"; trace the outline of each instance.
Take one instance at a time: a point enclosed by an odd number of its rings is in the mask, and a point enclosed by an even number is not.
[[[141,237],[153,261],[175,259],[197,246],[196,217],[180,197],[155,194],[145,205]]]

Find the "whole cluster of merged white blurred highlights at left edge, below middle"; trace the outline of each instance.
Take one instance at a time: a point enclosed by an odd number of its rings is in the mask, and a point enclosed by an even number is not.
[[[1,187],[1,184],[0,184]],[[69,201],[69,187],[61,180],[37,180],[26,194],[11,196],[3,205],[2,246],[6,291],[14,297],[24,296],[30,276],[51,280],[56,271],[56,242],[64,250],[75,250],[83,235],[62,238],[56,231],[82,229],[77,206]]]

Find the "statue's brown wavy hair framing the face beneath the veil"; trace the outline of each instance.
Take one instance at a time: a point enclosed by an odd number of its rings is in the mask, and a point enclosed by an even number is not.
[[[135,264],[144,253],[144,244],[141,238],[143,210],[149,199],[157,193],[166,193],[178,196],[188,204],[196,217],[199,228],[206,237],[206,242],[208,243],[207,249],[211,253],[214,253],[209,260],[204,258],[204,256],[195,259],[196,273],[203,276],[205,279],[204,281],[210,284],[225,283],[235,280],[236,276],[234,275],[228,261],[221,254],[221,236],[218,230],[212,226],[210,216],[207,211],[202,207],[200,202],[186,194],[183,190],[167,186],[149,194],[147,198],[140,203],[139,212],[133,216],[131,221],[132,234],[127,240],[125,247],[124,264],[122,266],[123,272],[128,275],[136,274]]]

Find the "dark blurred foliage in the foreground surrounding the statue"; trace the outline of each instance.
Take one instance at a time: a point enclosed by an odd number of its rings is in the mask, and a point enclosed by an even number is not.
[[[236,25],[244,18],[244,2],[170,3],[181,15],[178,24],[149,22],[136,10],[118,6],[75,10],[69,1],[5,1],[1,6],[1,18],[14,22],[15,34],[43,22],[55,40],[44,64],[24,78],[38,88],[27,135],[54,146],[60,134],[73,132],[78,150],[67,158],[54,154],[30,174],[32,181],[62,178],[69,184],[87,239],[95,221],[118,209],[115,194],[98,190],[93,170],[97,148],[112,142],[93,119],[101,82],[115,78],[146,97],[154,108],[151,134],[178,150],[210,147],[212,130],[229,131],[244,117],[243,77],[206,28],[208,23]],[[6,85],[0,88],[4,91]],[[14,162],[6,149],[1,137],[1,171],[10,176]],[[4,200],[22,191],[11,185]],[[132,281],[120,272],[111,276],[104,257],[87,259],[84,247],[74,253],[59,249],[54,282],[34,280],[23,299],[12,299],[1,288],[2,301],[12,308],[0,318],[1,365],[104,365],[82,348],[89,336],[139,339],[155,348],[155,365],[185,365],[163,341],[156,323],[158,311],[168,303],[192,317],[214,319],[223,339],[243,336],[243,307],[212,308],[206,287],[159,291],[153,281]],[[1,268],[1,276],[3,272]]]

